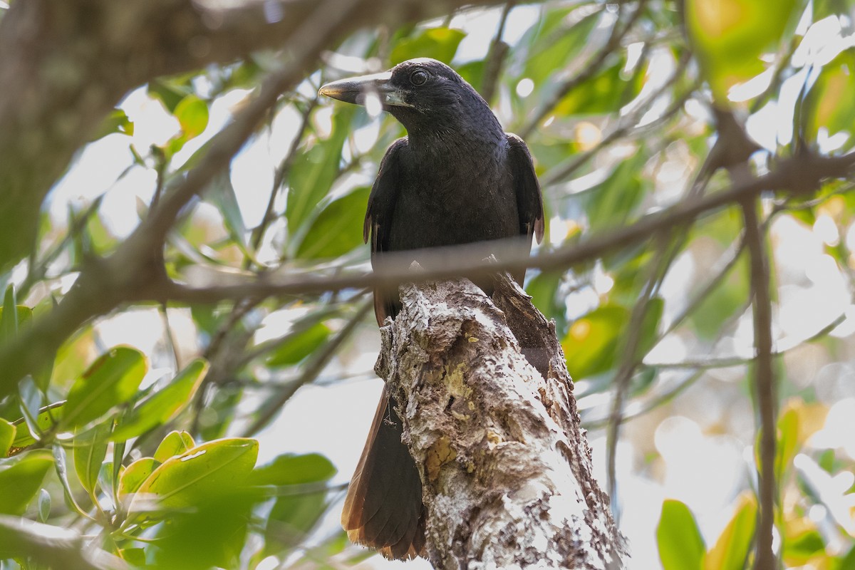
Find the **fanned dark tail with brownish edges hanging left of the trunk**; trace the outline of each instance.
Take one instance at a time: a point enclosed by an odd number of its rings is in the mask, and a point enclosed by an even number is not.
[[[341,513],[351,541],[378,549],[389,559],[425,555],[422,481],[401,442],[402,432],[384,389]]]

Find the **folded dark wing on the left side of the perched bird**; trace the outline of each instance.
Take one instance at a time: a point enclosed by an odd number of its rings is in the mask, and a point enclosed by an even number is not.
[[[379,256],[389,247],[389,230],[392,226],[392,211],[398,198],[398,173],[400,172],[401,153],[407,148],[407,138],[398,138],[386,150],[380,161],[380,173],[374,180],[369,195],[369,207],[365,212],[363,240],[371,238],[371,265],[376,269]],[[374,315],[382,325],[386,316],[394,316],[394,300],[384,291],[374,291]]]

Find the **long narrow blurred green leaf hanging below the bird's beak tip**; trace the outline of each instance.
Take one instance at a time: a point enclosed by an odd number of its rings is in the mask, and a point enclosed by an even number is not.
[[[355,106],[339,106],[333,113],[333,130],[329,138],[315,143],[307,152],[298,155],[288,174],[288,200],[285,216],[288,231],[298,232],[300,226],[329,189],[339,172],[341,149],[350,134]]]

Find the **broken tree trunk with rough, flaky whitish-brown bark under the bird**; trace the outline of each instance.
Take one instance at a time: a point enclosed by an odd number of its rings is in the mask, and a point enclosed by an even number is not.
[[[506,276],[404,285],[377,373],[402,403],[437,568],[620,568],[554,326]]]

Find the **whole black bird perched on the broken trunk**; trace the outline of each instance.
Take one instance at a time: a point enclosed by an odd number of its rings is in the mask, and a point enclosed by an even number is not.
[[[477,91],[430,58],[385,73],[339,79],[321,95],[345,103],[379,100],[407,131],[386,150],[369,193],[363,239],[371,263],[387,254],[419,260],[420,250],[476,244],[501,259],[507,244],[531,250],[543,238],[544,213],[534,162],[522,138],[504,132]],[[411,260],[400,252],[410,252]],[[428,267],[429,268],[429,267]],[[514,278],[522,285],[525,270]],[[491,294],[490,282],[476,282]],[[382,326],[401,310],[397,291],[374,290]],[[422,481],[406,444],[394,397],[384,388],[345,497],[341,522],[352,542],[389,559],[426,556]]]

